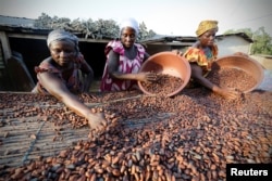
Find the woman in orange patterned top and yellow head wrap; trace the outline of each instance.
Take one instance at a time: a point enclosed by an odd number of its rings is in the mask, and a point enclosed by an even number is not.
[[[199,82],[225,99],[236,99],[238,96],[236,90],[221,88],[206,78],[211,70],[212,63],[218,56],[218,46],[214,43],[217,31],[217,21],[200,22],[198,29],[196,30],[198,41],[184,53],[184,56],[190,63],[191,78],[194,81]]]

